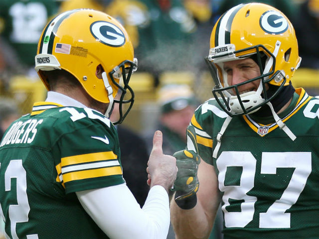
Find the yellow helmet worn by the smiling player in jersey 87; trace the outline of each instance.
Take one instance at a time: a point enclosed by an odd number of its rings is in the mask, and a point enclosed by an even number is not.
[[[254,57],[261,76],[245,83],[260,80],[260,85],[256,92],[240,95],[238,86],[243,83],[228,85],[223,62],[247,57]],[[229,116],[256,112],[274,99],[290,84],[300,62],[293,25],[278,9],[263,3],[239,4],[226,11],[213,27],[206,57],[215,82],[213,95]],[[278,88],[271,96],[266,83]]]

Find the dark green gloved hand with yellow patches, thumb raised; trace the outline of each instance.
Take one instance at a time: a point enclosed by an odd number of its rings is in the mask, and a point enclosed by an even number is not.
[[[172,188],[172,191],[176,191],[176,203],[177,201],[187,200],[187,198],[195,195],[199,187],[197,170],[200,157],[197,154],[198,147],[196,133],[192,125],[188,125],[186,136],[187,148],[185,150],[177,151],[173,154],[173,156],[176,158],[176,165],[178,168],[176,180]]]

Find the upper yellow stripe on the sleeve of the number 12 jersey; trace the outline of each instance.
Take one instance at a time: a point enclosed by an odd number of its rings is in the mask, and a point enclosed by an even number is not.
[[[117,159],[118,156],[113,151],[88,153],[61,158],[61,167],[78,163],[90,163],[94,161]]]

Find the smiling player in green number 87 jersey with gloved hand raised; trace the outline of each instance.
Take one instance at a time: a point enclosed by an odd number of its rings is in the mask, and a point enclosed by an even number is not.
[[[319,100],[292,86],[291,22],[267,4],[234,6],[206,60],[214,98],[191,119],[197,147],[175,153],[177,238],[208,238],[220,202],[224,239],[319,238]]]

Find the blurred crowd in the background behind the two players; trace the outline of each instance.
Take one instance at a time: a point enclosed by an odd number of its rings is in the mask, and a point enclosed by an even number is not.
[[[139,163],[145,170],[152,148],[149,135],[156,129],[163,130],[164,141],[168,142],[164,153],[172,154],[184,147],[184,132],[194,109],[212,97],[213,81],[204,62],[212,27],[223,12],[241,2],[253,1],[0,0],[0,137],[8,122],[29,113],[33,102],[45,100],[46,89],[34,70],[43,27],[57,13],[93,8],[116,17],[135,47],[139,69],[130,82],[136,95],[135,105],[119,126],[119,134],[121,150],[127,154],[127,159],[123,158],[124,177],[126,173],[131,177],[130,169]],[[318,94],[319,0],[259,2],[275,6],[293,23],[303,60],[292,83],[296,88],[304,87]],[[81,22],[78,24],[74,27],[81,27]],[[127,136],[131,133],[135,139]],[[138,146],[132,145],[133,141]],[[141,177],[147,177],[143,172]],[[131,189],[143,204],[148,190],[133,189],[134,186]],[[219,228],[214,230],[211,239],[220,238]],[[173,238],[173,232],[169,237]]]

